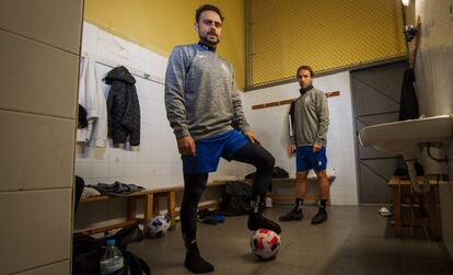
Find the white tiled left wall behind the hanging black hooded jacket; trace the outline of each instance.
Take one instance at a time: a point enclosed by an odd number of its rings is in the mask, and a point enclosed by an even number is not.
[[[155,81],[133,76],[141,112],[139,151],[113,148],[112,144],[107,148],[78,146],[76,174],[88,184],[120,181],[148,188],[183,185],[182,161],[164,105],[163,79],[167,58],[86,22],[83,25],[82,53],[101,62],[123,65],[131,72],[148,73]],[[96,70],[102,76],[111,69],[96,64]],[[107,95],[109,88],[105,84],[104,88]],[[219,172],[210,179],[223,174],[237,172],[233,164],[222,161]]]

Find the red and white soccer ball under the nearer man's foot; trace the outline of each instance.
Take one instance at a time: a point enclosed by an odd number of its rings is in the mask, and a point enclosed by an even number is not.
[[[262,260],[275,257],[280,245],[280,236],[269,229],[260,228],[251,237],[252,252]]]

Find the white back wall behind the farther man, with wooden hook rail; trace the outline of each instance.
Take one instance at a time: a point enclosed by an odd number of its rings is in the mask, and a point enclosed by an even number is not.
[[[357,171],[353,145],[352,105],[349,72],[314,79],[314,87],[323,91],[340,91],[340,96],[328,99],[329,129],[327,134],[328,168],[336,171],[330,187],[332,204],[357,205]],[[253,105],[295,99],[299,83],[288,83],[246,92],[243,95],[245,115],[253,130],[275,157],[276,165],[295,175],[295,158],[288,157],[288,112],[289,105],[252,110]]]

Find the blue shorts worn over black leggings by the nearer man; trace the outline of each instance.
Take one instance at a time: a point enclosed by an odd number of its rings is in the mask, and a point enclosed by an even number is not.
[[[205,174],[216,172],[220,157],[231,161],[233,153],[248,144],[248,139],[239,130],[196,140],[196,156],[183,154],[185,174]]]

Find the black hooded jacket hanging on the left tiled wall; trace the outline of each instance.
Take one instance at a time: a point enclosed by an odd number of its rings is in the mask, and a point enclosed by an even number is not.
[[[136,79],[123,66],[111,70],[105,83],[112,85],[107,98],[108,137],[114,144],[140,145],[140,104]]]

